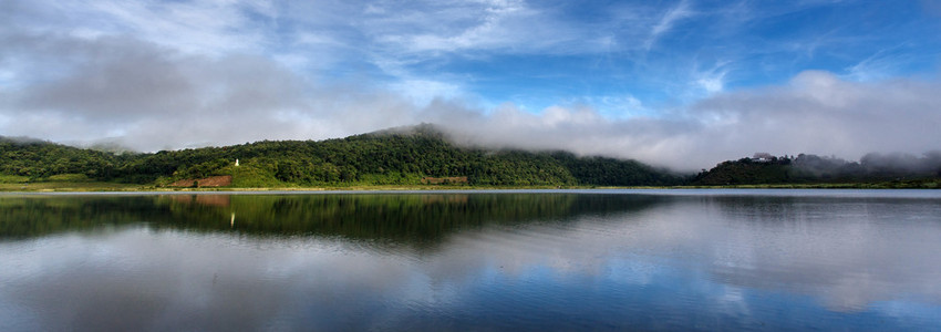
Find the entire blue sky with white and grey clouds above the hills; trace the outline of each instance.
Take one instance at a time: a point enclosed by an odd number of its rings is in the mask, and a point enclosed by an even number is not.
[[[154,152],[434,123],[680,170],[941,149],[941,1],[0,0],[0,135]]]

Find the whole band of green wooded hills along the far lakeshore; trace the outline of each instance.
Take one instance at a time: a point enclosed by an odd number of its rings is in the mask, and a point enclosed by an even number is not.
[[[878,184],[938,188],[941,152],[920,157],[869,154],[859,162],[756,154],[684,177],[635,160],[462,147],[449,143],[433,125],[318,142],[265,141],[153,154],[115,154],[0,137],[0,184],[86,181],[162,187],[210,176],[231,176],[231,187],[236,188],[428,183],[515,187]]]

